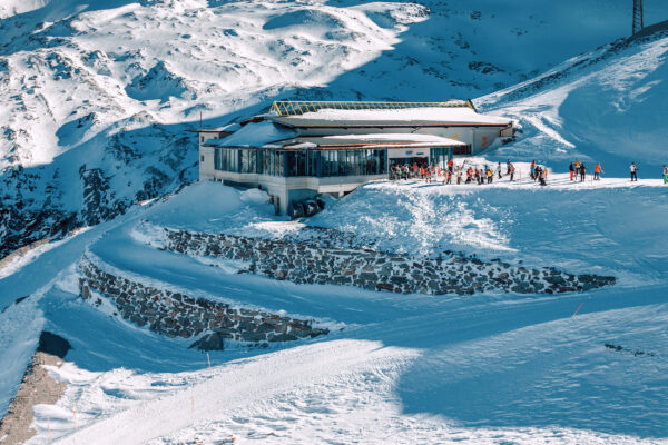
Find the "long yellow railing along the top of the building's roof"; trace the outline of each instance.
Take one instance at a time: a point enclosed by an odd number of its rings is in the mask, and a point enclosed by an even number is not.
[[[316,112],[322,109],[332,110],[403,110],[406,108],[464,108],[473,110],[470,100],[451,99],[443,102],[355,102],[355,101],[308,101],[277,100],[272,103],[269,113],[275,116],[298,116],[305,112]]]

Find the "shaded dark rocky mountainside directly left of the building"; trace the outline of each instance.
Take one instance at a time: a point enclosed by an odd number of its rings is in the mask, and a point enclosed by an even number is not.
[[[141,118],[127,121],[132,125]],[[69,165],[71,157],[63,156],[46,166],[18,164],[1,171],[0,259],[33,243],[114,219],[137,201],[174,192],[195,180],[197,144],[184,136],[185,129],[150,125],[100,134],[90,145],[102,146],[102,152],[95,152],[76,168]],[[147,139],[153,142],[145,144]],[[72,191],[79,187],[80,196]]]

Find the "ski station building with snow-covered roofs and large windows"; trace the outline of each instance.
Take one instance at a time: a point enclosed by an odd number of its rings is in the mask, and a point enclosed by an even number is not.
[[[277,101],[268,113],[196,130],[199,179],[266,190],[277,214],[317,211],[321,194],[343,196],[389,177],[393,164],[438,165],[511,137],[512,121],[471,101]]]

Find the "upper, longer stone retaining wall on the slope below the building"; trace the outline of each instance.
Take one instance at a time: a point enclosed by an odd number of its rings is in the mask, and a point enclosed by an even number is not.
[[[248,265],[247,273],[297,284],[347,285],[430,295],[554,294],[587,291],[615,284],[615,277],[576,276],[556,268],[529,269],[450,251],[439,258],[411,258],[372,249],[332,247],[317,241],[163,230],[161,248],[190,256],[242,260]]]

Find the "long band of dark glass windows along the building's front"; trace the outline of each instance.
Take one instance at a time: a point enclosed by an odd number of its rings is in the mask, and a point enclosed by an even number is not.
[[[387,174],[387,150],[215,148],[216,170],[282,177]]]

